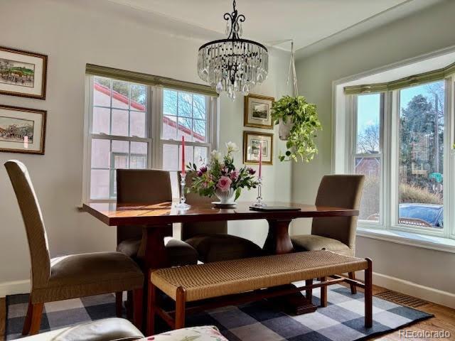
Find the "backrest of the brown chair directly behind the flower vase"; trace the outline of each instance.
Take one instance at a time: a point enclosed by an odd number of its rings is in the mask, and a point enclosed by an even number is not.
[[[186,188],[191,188],[193,183],[194,172],[186,173]],[[180,184],[180,173],[178,173],[178,183]],[[180,192],[180,186],[178,186]],[[201,197],[198,193],[187,193],[186,202],[188,205],[210,204],[215,200],[213,197]],[[219,222],[186,222],[182,224],[182,240],[187,240],[200,234],[227,234],[228,222],[223,220]]]

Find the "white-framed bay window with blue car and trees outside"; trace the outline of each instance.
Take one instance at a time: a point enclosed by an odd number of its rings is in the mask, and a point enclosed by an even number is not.
[[[344,95],[345,171],[365,175],[359,227],[455,237],[454,81]]]

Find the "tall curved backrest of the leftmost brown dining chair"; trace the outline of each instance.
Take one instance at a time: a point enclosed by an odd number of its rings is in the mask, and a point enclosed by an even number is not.
[[[31,258],[32,288],[44,287],[50,277],[50,254],[41,208],[26,166],[20,161],[10,160],[5,163],[5,168],[16,193],[23,224],[26,227]]]

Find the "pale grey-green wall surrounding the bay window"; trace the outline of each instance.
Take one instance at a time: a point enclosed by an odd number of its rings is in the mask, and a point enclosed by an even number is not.
[[[323,131],[315,161],[293,167],[293,200],[314,201],[319,179],[331,173],[332,82],[455,45],[454,14],[455,1],[444,1],[299,60],[299,92],[317,104]],[[293,227],[294,234],[308,232],[309,222],[301,220]],[[374,271],[379,274],[455,293],[455,272],[451,271],[455,254],[365,237],[358,237],[357,246],[357,255],[372,257]]]

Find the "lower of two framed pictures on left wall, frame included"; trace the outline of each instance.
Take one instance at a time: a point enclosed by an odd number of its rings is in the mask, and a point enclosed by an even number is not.
[[[0,152],[44,154],[44,110],[0,104]]]

